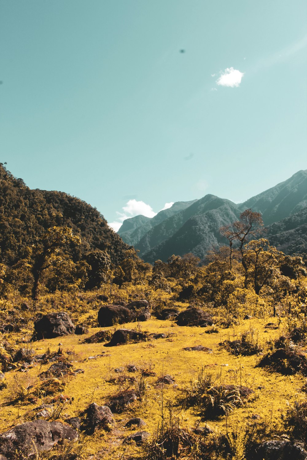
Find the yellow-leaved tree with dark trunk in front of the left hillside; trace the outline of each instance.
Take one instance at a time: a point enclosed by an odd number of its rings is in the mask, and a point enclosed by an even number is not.
[[[37,300],[39,282],[41,275],[46,268],[52,265],[52,261],[57,257],[60,247],[65,245],[79,245],[81,239],[75,236],[69,227],[51,227],[41,239],[40,245],[33,250],[33,264],[31,272],[34,278],[32,288],[32,299]]]

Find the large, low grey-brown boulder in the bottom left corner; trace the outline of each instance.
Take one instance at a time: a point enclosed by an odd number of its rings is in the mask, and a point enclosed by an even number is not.
[[[35,454],[51,449],[61,440],[76,441],[78,433],[70,425],[54,421],[35,420],[17,425],[0,434],[0,454],[16,459],[16,451]]]

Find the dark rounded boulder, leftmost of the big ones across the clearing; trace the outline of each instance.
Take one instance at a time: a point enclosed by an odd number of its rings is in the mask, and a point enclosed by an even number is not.
[[[75,333],[73,325],[67,313],[48,313],[34,322],[35,334],[32,339],[53,339],[62,335]]]

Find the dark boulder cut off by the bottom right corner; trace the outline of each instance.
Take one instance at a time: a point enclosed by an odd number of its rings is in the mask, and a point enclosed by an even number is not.
[[[273,439],[260,444],[256,449],[256,460],[305,460],[307,452],[303,443],[291,443],[280,439]]]

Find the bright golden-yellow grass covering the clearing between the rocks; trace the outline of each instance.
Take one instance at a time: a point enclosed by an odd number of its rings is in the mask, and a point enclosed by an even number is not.
[[[91,322],[95,323],[98,306],[96,304],[90,306],[94,308],[88,310],[88,307],[82,304],[83,314],[78,318],[79,323],[86,321],[87,316],[92,316]],[[176,307],[178,306],[185,308],[186,305],[177,303]],[[65,310],[63,306],[61,309]],[[77,306],[74,306],[74,309],[77,311]],[[72,316],[74,316],[74,309],[72,309]],[[243,426],[252,414],[259,414],[260,421],[266,421],[271,431],[274,432],[289,407],[294,406],[295,401],[306,396],[301,391],[304,384],[302,376],[300,374],[285,376],[267,372],[265,369],[256,367],[259,362],[259,357],[256,355],[235,356],[219,346],[219,343],[225,340],[241,337],[246,330],[255,330],[257,344],[263,353],[266,353],[267,341],[275,340],[280,335],[279,329],[270,329],[265,332],[265,324],[269,320],[277,323],[277,320],[272,318],[263,320],[253,318],[233,328],[219,328],[218,333],[207,334],[206,328],[179,327],[172,321],[160,321],[152,317],[139,327],[149,333],[167,334],[168,339],[148,340],[107,348],[104,347],[104,343],[84,343],[84,339],[101,330],[110,329],[112,331],[112,328],[91,327],[89,333],[83,336],[71,335],[60,339],[33,342],[31,348],[34,349],[35,354],[46,351],[51,354],[56,353],[59,348],[58,344],[61,342],[64,357],[72,362],[74,368],[83,369],[84,374],[68,375],[63,379],[58,379],[58,389],[56,388],[55,394],[48,395],[47,391],[44,394],[39,374],[45,372],[51,363],[36,364],[27,372],[22,372],[19,368],[7,372],[7,386],[0,391],[2,406],[0,431],[6,431],[26,420],[33,420],[35,417],[33,409],[40,406],[42,401],[45,404],[53,401],[55,404],[54,398],[60,394],[69,401],[60,414],[57,414],[60,420],[65,420],[68,417],[78,416],[92,402],[104,405],[119,391],[133,388],[140,397],[131,403],[122,414],[115,414],[116,428],[111,433],[98,430],[93,436],[84,438],[87,453],[80,454],[80,458],[82,455],[85,455],[83,458],[93,460],[127,459],[133,455],[144,458],[142,446],[123,443],[123,439],[133,433],[133,430],[124,426],[125,423],[131,417],[141,417],[147,424],[145,430],[151,433],[154,440],[159,426],[161,429],[163,399],[165,407],[171,404],[176,412],[176,419],[172,421],[176,425],[172,426],[172,429],[175,430],[178,425],[180,429],[191,431],[193,426],[199,425],[201,415],[194,407],[180,404],[181,390],[191,385],[191,381],[197,381],[199,371],[203,368],[208,374],[219,374],[219,381],[225,385],[247,386],[254,391],[242,407],[229,411],[227,417],[220,417],[218,420],[209,422],[210,427],[216,433],[226,433],[227,426],[232,423],[232,420],[236,420],[238,426]],[[125,324],[123,327],[135,328],[136,323]],[[8,334],[7,338],[12,344],[22,346],[22,332]],[[212,349],[212,353],[183,350],[185,347],[199,344]],[[115,369],[125,368],[129,364],[135,365],[138,371],[131,374],[125,371],[126,375],[135,377],[136,381],[116,378],[121,374],[117,374]],[[156,375],[146,376],[144,379],[141,377],[142,369],[154,369]],[[156,380],[158,376],[165,374],[174,377],[174,385],[162,385],[161,388],[161,385],[156,384]],[[38,391],[39,387],[40,391]],[[13,403],[14,400],[15,403]],[[237,435],[233,436],[230,442],[234,442]],[[87,443],[87,440],[90,442]]]

